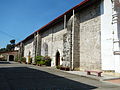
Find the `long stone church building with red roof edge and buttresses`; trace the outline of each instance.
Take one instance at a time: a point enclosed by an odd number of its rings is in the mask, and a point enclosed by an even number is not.
[[[51,66],[120,73],[120,1],[84,0],[17,44],[19,56]]]

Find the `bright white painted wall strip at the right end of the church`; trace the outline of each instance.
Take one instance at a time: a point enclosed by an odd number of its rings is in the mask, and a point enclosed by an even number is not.
[[[115,70],[113,55],[112,2],[101,3],[101,64],[102,70]]]

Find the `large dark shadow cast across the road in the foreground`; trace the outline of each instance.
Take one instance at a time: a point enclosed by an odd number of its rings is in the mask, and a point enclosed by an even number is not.
[[[0,68],[0,90],[91,90],[97,87],[27,67]]]

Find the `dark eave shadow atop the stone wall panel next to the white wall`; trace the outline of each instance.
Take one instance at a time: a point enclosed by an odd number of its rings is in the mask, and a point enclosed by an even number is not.
[[[101,0],[93,3],[92,5],[83,8],[79,11],[78,17],[80,15],[80,23],[94,19],[104,14],[104,4]],[[84,18],[83,18],[84,17]]]

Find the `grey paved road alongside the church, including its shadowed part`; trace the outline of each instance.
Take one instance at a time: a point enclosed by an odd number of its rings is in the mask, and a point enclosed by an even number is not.
[[[50,67],[0,62],[0,90],[120,90],[120,86]]]

